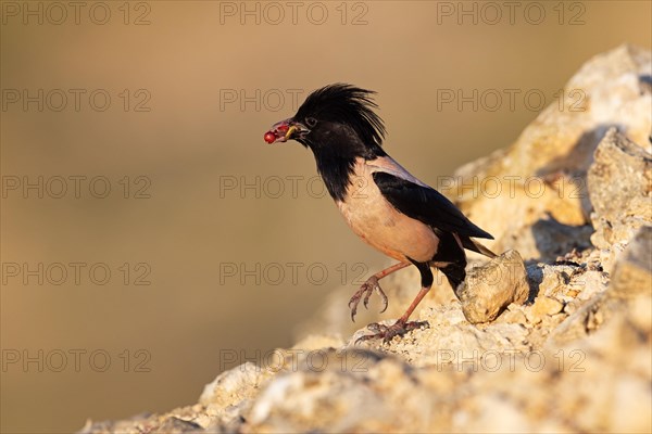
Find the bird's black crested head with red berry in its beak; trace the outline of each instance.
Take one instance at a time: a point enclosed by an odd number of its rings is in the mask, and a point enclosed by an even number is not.
[[[385,155],[380,148],[385,126],[374,112],[374,93],[343,84],[317,89],[294,116],[273,125],[264,139],[267,143],[296,140],[315,154]]]

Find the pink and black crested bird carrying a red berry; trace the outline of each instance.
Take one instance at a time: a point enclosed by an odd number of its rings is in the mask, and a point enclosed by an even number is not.
[[[384,312],[388,297],[379,280],[414,265],[421,290],[405,312],[392,324],[368,324],[373,334],[360,340],[391,341],[428,327],[410,316],[430,291],[431,267],[439,269],[460,296],[466,277],[465,250],[490,258],[497,255],[474,238],[493,237],[474,225],[444,195],[410,174],[383,148],[385,123],[376,113],[376,92],[349,84],[333,84],[311,92],[294,116],[274,124],[265,132],[268,144],[294,140],[310,149],[329,195],[349,227],[364,242],[397,264],[373,275],[349,301],[355,321],[358,305],[367,307],[376,292]],[[359,340],[359,341],[360,341]]]

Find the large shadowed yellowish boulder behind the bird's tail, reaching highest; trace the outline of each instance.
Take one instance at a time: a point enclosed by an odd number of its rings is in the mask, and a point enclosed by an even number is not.
[[[551,261],[591,246],[587,170],[598,144],[614,129],[637,144],[637,156],[652,152],[650,68],[650,52],[630,46],[591,59],[566,84],[565,98],[547,107],[514,145],[456,171],[455,199],[497,238],[489,247]],[[487,191],[467,187],[473,184]],[[618,186],[611,182],[609,191]]]

